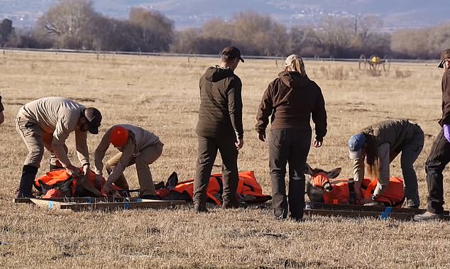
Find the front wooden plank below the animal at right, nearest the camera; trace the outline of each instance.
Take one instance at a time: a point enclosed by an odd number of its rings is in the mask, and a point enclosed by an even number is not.
[[[304,214],[319,216],[350,216],[350,217],[375,217],[379,219],[400,219],[410,221],[414,213],[406,212],[373,212],[373,211],[346,211],[336,209],[304,209]],[[444,216],[444,221],[449,221],[450,216]]]

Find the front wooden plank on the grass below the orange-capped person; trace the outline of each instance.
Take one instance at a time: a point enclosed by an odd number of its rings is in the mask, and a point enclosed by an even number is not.
[[[172,207],[180,204],[188,204],[186,201],[173,200],[150,200],[141,199],[141,202],[112,202],[112,203],[93,203],[93,204],[61,204],[61,209],[72,209],[73,211],[92,211],[92,210],[117,210],[117,209],[140,209],[140,208],[163,208]]]

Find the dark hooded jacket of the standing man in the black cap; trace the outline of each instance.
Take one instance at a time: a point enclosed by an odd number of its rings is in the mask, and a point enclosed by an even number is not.
[[[230,69],[209,67],[200,78],[197,135],[243,137],[242,82]]]

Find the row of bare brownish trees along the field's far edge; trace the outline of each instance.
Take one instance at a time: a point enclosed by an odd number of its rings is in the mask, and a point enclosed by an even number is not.
[[[217,54],[232,44],[244,55],[432,59],[450,45],[450,23],[383,33],[377,16],[329,16],[314,26],[287,28],[270,16],[245,11],[229,21],[217,18],[176,31],[158,11],[132,8],[126,19],[110,18],[95,11],[91,0],[60,1],[29,30],[12,24],[9,19],[0,23],[2,47]]]

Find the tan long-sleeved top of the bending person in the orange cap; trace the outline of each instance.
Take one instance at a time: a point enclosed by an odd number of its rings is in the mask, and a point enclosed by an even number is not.
[[[97,146],[97,149],[95,150],[94,172],[97,175],[102,175],[103,158],[106,153],[106,150],[108,150],[109,148],[109,138],[111,137],[111,131],[116,126],[126,128],[128,131],[130,131],[130,136],[128,137],[128,141],[126,142],[125,146],[122,148],[118,148],[121,151],[122,155],[116,168],[114,168],[111,175],[109,175],[109,178],[112,177],[114,179],[119,177],[119,175],[121,175],[121,173],[124,172],[126,166],[128,165],[128,163],[130,163],[131,159],[139,155],[139,153],[141,152],[141,150],[143,150],[143,148],[153,146],[156,143],[160,143],[160,138],[158,136],[156,136],[154,133],[151,133],[150,131],[144,130],[141,127],[133,126],[130,124],[119,124],[111,126],[111,128],[109,128],[108,131],[106,131],[103,138],[101,138],[99,146]]]

